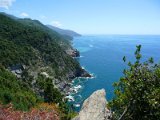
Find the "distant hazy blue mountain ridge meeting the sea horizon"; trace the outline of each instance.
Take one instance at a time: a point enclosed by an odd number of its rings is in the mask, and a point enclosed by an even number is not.
[[[79,33],[76,33],[72,30],[61,29],[61,28],[58,28],[58,27],[55,27],[52,25],[47,25],[47,27],[49,27],[50,29],[52,29],[52,30],[58,32],[59,34],[64,35],[64,36],[70,36],[70,37],[81,36]]]

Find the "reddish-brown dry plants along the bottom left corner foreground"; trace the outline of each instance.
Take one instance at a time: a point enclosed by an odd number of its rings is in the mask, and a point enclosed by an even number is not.
[[[29,112],[15,111],[12,104],[0,105],[0,120],[60,120],[55,104],[41,103]]]

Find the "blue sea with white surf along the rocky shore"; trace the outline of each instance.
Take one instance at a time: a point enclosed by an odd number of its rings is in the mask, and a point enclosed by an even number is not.
[[[127,68],[123,56],[127,61],[134,62],[136,45],[142,45],[142,61],[153,57],[160,61],[160,36],[158,35],[86,35],[75,37],[73,46],[81,53],[76,58],[81,66],[93,74],[94,78],[78,78],[73,81],[77,93],[71,94],[75,110],[80,110],[83,101],[94,91],[104,88],[107,100],[114,97],[113,83],[123,76]],[[80,106],[79,106],[80,105]]]

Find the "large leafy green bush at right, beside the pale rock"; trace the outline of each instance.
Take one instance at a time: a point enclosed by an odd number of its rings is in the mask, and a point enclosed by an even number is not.
[[[115,83],[116,97],[110,102],[114,119],[158,120],[160,118],[160,66],[153,58],[141,63],[141,45],[135,63],[128,62],[124,77]],[[126,58],[123,58],[126,61]]]

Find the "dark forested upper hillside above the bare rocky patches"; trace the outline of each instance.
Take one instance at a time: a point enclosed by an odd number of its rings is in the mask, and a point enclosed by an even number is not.
[[[0,18],[0,63],[5,67],[41,63],[51,66],[58,76],[80,69],[78,62],[65,53],[71,45],[63,36],[35,20],[12,19],[4,14]]]

